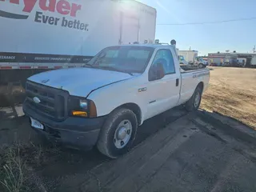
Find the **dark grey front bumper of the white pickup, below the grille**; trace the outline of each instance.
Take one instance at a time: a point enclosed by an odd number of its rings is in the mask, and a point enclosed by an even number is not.
[[[106,117],[100,118],[76,118],[68,117],[62,122],[55,122],[30,109],[30,106],[23,104],[23,111],[26,116],[41,122],[44,130],[33,128],[45,136],[51,142],[58,142],[64,146],[88,150],[98,141],[98,134],[102,129]]]

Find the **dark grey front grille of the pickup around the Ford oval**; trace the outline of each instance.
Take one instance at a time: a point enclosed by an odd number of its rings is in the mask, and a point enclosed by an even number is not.
[[[54,89],[34,82],[26,82],[26,102],[36,112],[54,120],[66,118],[68,96],[68,92],[64,90]],[[34,98],[38,98],[40,102],[34,102]]]

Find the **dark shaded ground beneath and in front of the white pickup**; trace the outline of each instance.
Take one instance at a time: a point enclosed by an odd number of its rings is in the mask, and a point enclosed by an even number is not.
[[[0,124],[0,134],[9,126],[32,131],[26,117]],[[116,160],[96,149],[68,150],[33,140],[18,149],[8,146],[11,153],[0,153],[0,181],[8,162],[14,177],[24,178],[22,190],[10,191],[255,191],[255,138],[254,130],[226,116],[187,114],[179,107],[147,120],[134,149]],[[13,186],[13,180],[7,183]],[[0,185],[0,191],[8,190]]]

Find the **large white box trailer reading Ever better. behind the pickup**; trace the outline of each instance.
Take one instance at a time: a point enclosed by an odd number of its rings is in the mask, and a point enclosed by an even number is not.
[[[0,94],[46,70],[83,66],[106,46],[154,42],[156,10],[130,0],[1,0]]]

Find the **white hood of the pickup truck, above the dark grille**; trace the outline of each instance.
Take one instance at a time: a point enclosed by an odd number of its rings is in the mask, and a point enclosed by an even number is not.
[[[87,97],[92,90],[132,77],[130,74],[122,72],[82,67],[50,70],[35,74],[28,80],[45,86],[67,90],[70,95]]]

